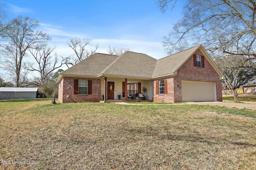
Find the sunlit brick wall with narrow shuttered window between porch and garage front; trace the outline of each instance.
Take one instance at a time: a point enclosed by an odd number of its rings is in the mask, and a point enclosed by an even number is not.
[[[156,81],[164,80],[164,79],[167,80],[168,94],[156,94]],[[167,77],[167,78],[159,78],[157,80],[152,80],[152,96],[153,96],[153,102],[174,103],[174,78]]]

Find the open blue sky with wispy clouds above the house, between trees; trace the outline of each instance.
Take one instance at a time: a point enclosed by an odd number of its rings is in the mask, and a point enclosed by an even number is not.
[[[162,37],[182,18],[184,1],[162,14],[154,0],[6,0],[8,18],[29,16],[40,21],[38,29],[48,33],[56,52],[72,55],[71,37],[90,38],[99,53],[109,45],[128,48],[160,59],[167,54]]]

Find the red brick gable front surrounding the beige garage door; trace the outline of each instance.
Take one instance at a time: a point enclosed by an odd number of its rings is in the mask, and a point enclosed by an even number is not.
[[[194,54],[203,55],[199,49]],[[207,61],[206,57],[204,58],[204,68],[195,67],[192,56],[190,57],[190,59],[188,59],[188,61],[186,61],[186,63],[184,63],[178,69],[177,75],[174,76],[174,102],[182,102],[181,80],[216,82],[217,101],[222,101],[222,87],[220,76],[217,74],[217,72],[214,70],[211,64]]]

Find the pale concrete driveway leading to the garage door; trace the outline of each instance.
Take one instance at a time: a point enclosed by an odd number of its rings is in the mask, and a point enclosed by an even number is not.
[[[236,107],[238,109],[256,109],[256,104],[248,103],[234,103],[234,102],[187,102],[187,104],[201,104],[210,106],[226,106],[226,107]]]

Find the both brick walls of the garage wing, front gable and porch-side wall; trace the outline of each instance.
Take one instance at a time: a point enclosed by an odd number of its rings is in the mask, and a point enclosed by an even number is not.
[[[198,49],[194,54],[203,55]],[[156,94],[156,81],[167,79],[168,94]],[[200,82],[216,82],[217,101],[222,101],[222,87],[220,76],[216,73],[211,64],[204,59],[204,68],[195,67],[193,55],[184,63],[177,71],[177,75],[173,77],[160,78],[152,80],[152,96],[154,102],[182,102],[181,80],[200,81]]]

